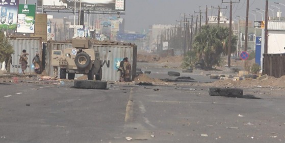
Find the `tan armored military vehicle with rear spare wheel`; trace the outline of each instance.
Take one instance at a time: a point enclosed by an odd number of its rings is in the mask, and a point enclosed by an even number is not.
[[[72,39],[72,48],[53,50],[51,65],[60,67],[60,78],[74,79],[76,74],[87,75],[88,80],[102,79],[102,61],[97,50],[90,49],[90,39]]]

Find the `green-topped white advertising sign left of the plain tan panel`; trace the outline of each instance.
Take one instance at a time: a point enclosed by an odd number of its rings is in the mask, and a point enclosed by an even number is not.
[[[35,32],[36,5],[19,5],[17,33]]]

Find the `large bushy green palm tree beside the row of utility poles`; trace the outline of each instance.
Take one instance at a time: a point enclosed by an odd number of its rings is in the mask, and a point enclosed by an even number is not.
[[[204,25],[201,32],[198,33],[193,42],[193,52],[188,52],[184,58],[183,66],[186,63],[193,66],[193,63],[203,60],[205,69],[212,69],[214,65],[220,66],[222,55],[228,54],[228,27]],[[236,52],[237,36],[232,35],[231,53]]]

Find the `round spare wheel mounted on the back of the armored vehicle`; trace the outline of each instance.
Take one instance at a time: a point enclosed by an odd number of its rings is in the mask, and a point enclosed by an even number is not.
[[[86,52],[81,52],[76,54],[74,62],[77,68],[84,69],[89,66],[91,59]]]

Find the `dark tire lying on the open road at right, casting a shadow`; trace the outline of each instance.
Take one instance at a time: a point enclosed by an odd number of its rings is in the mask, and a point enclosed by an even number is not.
[[[236,88],[209,88],[211,96],[243,97],[243,90]]]

